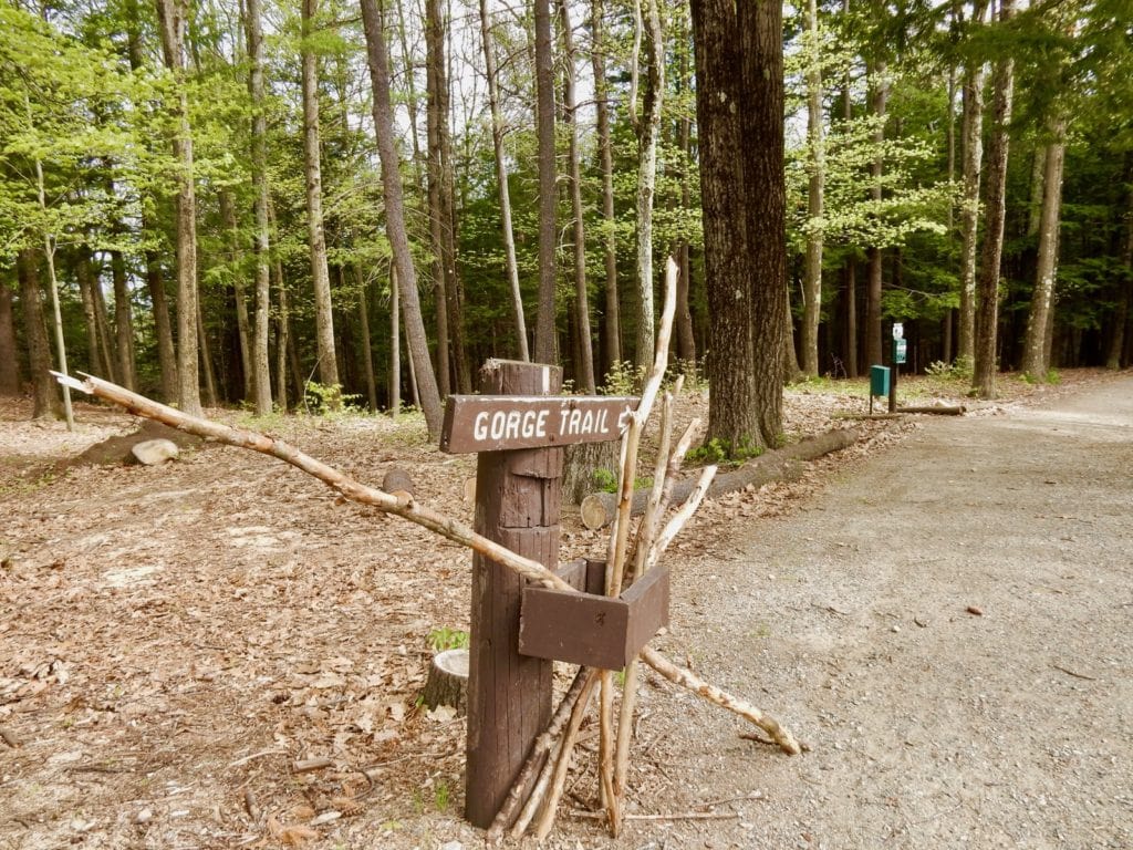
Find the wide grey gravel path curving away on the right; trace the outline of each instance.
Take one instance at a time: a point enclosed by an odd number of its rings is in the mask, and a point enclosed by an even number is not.
[[[667,639],[787,721],[786,758],[690,706],[664,771],[585,847],[1133,847],[1133,379],[934,420],[730,558],[685,571]],[[670,695],[665,695],[671,699]],[[656,700],[655,700],[656,704]],[[564,843],[564,847],[571,847]]]

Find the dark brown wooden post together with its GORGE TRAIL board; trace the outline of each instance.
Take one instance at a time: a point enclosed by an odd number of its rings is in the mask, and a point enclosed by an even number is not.
[[[616,440],[636,398],[556,396],[557,366],[488,360],[484,396],[450,396],[441,449],[478,452],[475,528],[548,569],[559,566],[562,447]],[[465,815],[486,828],[551,720],[552,662],[520,655],[522,588],[472,558]]]

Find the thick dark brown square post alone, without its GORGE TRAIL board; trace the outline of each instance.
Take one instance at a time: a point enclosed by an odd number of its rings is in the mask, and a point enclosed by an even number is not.
[[[557,366],[489,360],[480,391],[557,393]],[[476,467],[476,530],[550,569],[559,566],[562,449],[484,451]],[[535,738],[551,720],[552,662],[519,654],[525,583],[480,555],[472,559],[465,816],[492,824]]]

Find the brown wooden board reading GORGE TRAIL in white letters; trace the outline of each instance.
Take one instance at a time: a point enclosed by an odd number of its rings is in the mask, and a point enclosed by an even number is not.
[[[452,454],[617,440],[632,396],[450,396],[441,450]]]

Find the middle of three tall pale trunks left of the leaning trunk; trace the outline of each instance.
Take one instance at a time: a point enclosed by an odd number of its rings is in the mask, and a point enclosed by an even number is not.
[[[256,306],[252,337],[252,388],[256,416],[272,411],[272,381],[267,334],[271,307],[271,220],[267,214],[267,116],[264,94],[264,35],[259,0],[246,0],[245,36],[248,43],[248,94],[252,96],[252,192],[256,219]],[[287,409],[286,399],[280,398]]]

